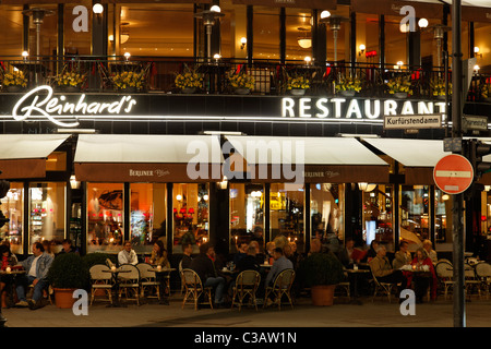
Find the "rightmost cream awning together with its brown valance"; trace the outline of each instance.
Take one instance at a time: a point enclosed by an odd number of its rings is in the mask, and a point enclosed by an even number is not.
[[[406,184],[434,184],[433,168],[451,153],[443,152],[443,141],[363,139],[364,142],[385,153],[405,166]]]

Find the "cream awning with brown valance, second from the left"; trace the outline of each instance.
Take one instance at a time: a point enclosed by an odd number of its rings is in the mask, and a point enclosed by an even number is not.
[[[80,135],[75,152],[79,181],[220,181],[223,163],[217,136]]]

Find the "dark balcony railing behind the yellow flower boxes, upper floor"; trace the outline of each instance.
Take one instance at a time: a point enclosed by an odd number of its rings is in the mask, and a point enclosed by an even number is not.
[[[356,76],[361,80],[362,89],[357,96],[383,97],[387,96],[388,81],[398,76],[406,76],[411,85],[411,98],[435,98],[435,81],[440,87],[444,83],[443,68],[424,69],[422,67],[397,67],[378,63],[360,62],[326,62],[323,65],[306,63],[304,61],[256,60],[249,62],[244,59],[212,59],[179,58],[179,57],[81,57],[65,56],[63,59],[52,57],[36,57],[12,59],[0,57],[0,79],[2,89],[5,91],[5,77],[14,71],[23,72],[27,80],[27,88],[38,85],[50,85],[58,88],[61,74],[75,72],[84,75],[81,89],[87,93],[115,93],[118,91],[115,76],[122,72],[141,73],[144,84],[142,93],[179,93],[175,79],[185,69],[197,72],[202,77],[201,94],[233,94],[228,76],[240,72],[252,75],[255,80],[253,95],[287,95],[288,77],[303,76],[309,79],[310,88],[307,95],[335,94],[335,86],[343,76]],[[452,88],[452,72],[448,72],[448,86]],[[475,72],[468,93],[468,101],[490,101],[488,97],[491,76]],[[487,88],[484,91],[484,88]],[[440,96],[444,99],[444,96]]]

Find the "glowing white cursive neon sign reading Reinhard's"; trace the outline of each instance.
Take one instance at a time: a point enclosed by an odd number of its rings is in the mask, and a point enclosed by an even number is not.
[[[38,93],[46,91],[46,96]],[[31,101],[29,98],[32,98]],[[27,120],[29,117],[44,116],[52,123],[61,128],[74,128],[79,125],[76,115],[119,115],[121,112],[130,112],[131,108],[136,105],[136,100],[131,96],[123,96],[120,100],[112,103],[89,103],[85,101],[85,94],[82,94],[77,103],[67,101],[65,96],[53,97],[53,91],[50,86],[39,86],[26,93],[12,109],[12,117],[17,121]],[[75,121],[67,121],[62,119],[75,119]]]

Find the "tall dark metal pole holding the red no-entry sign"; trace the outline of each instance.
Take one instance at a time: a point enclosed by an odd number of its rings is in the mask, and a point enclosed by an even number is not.
[[[452,2],[452,137],[462,139],[462,1]],[[464,148],[464,147],[463,147]],[[462,152],[460,152],[462,153]],[[454,241],[454,327],[466,326],[464,292],[464,194],[453,196],[452,236]]]

